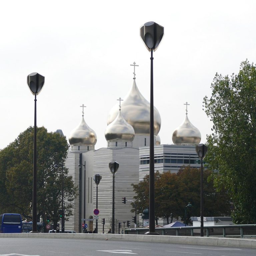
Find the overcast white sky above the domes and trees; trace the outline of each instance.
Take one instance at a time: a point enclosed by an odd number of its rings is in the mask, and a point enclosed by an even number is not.
[[[161,144],[188,117],[202,134],[212,124],[202,110],[216,72],[231,75],[241,61],[255,62],[255,1],[1,1],[0,149],[34,125],[34,96],[27,75],[45,85],[37,96],[37,125],[62,129],[67,138],[81,121],[96,132],[95,148],[106,147],[107,116],[133,83],[149,101],[150,53],[139,28],[164,27],[154,52],[154,105]]]

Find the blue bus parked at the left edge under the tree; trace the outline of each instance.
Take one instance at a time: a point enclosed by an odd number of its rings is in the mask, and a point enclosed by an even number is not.
[[[22,221],[18,213],[4,213],[0,215],[0,233],[21,233]]]

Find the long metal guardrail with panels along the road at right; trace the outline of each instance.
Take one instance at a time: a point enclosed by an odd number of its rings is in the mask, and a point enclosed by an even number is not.
[[[127,228],[125,234],[144,235],[148,228]],[[200,236],[200,227],[156,228],[156,232],[166,236]],[[256,237],[256,224],[249,225],[219,225],[204,227],[207,237]]]

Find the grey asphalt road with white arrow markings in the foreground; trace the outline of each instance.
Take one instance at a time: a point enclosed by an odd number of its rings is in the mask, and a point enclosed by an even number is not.
[[[256,248],[92,239],[1,238],[0,256],[255,256]]]

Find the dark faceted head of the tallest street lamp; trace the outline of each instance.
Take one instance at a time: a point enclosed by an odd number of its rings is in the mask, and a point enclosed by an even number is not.
[[[140,36],[150,52],[156,51],[164,36],[164,27],[153,21],[147,22],[141,26]]]

